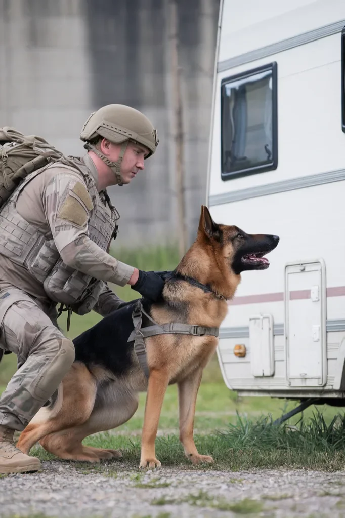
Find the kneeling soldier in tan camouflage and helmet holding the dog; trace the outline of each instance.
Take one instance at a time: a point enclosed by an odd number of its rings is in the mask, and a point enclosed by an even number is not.
[[[139,111],[108,105],[80,134],[87,153],[28,175],[0,211],[0,348],[18,356],[19,370],[0,398],[0,473],[37,471],[38,458],[14,444],[51,397],[74,360],[57,327],[56,303],[106,316],[123,303],[107,281],[130,284],[157,300],[164,281],[109,255],[116,209],[106,188],[130,183],[158,146]]]

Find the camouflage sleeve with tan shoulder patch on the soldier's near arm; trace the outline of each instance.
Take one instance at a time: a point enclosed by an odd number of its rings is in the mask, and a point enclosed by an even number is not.
[[[43,206],[55,246],[66,265],[95,279],[127,284],[134,268],[117,261],[89,238],[87,223],[93,204],[78,175],[58,172],[44,189]]]

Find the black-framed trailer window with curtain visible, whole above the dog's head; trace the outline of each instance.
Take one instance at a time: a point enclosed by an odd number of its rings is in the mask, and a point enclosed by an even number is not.
[[[221,177],[276,169],[277,63],[221,82]]]

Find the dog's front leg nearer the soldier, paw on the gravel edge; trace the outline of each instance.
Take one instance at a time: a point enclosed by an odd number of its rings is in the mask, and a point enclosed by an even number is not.
[[[159,468],[160,462],[156,458],[155,439],[158,430],[160,411],[164,394],[167,391],[169,377],[162,370],[151,370],[148,378],[147,396],[144,414],[144,426],[141,438],[140,468],[148,464],[150,468]]]

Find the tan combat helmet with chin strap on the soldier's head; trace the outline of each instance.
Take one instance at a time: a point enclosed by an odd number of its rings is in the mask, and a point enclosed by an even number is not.
[[[111,162],[93,144],[101,136],[115,144],[121,144],[121,151],[116,162]],[[148,149],[145,158],[153,155],[158,146],[157,130],[140,111],[123,104],[108,104],[94,111],[85,122],[80,139],[86,142],[85,149],[94,151],[114,172],[117,184],[123,185],[121,162],[128,141],[137,142]]]

